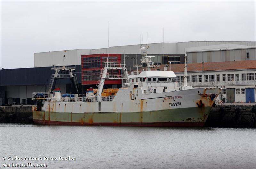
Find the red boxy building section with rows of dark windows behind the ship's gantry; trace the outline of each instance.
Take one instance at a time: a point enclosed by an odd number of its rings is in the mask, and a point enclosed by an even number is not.
[[[109,57],[108,57],[109,56]],[[96,85],[104,63],[121,62],[121,54],[90,54],[82,55],[82,85]],[[120,70],[111,70],[109,74],[121,74]],[[121,80],[106,80],[105,84],[121,84]]]

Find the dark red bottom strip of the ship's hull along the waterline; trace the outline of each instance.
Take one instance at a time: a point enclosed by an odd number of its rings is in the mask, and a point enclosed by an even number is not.
[[[203,127],[204,122],[155,122],[155,123],[79,123],[35,120],[36,124],[47,125],[84,125],[84,126],[134,126],[134,127]]]

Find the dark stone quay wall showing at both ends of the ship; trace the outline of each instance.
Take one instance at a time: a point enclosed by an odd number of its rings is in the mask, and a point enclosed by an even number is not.
[[[255,128],[256,105],[216,105],[205,127]],[[0,107],[0,123],[33,123],[31,106]]]

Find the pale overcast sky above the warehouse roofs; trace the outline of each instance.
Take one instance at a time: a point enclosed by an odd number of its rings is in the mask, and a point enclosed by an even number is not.
[[[34,53],[194,40],[256,41],[256,1],[0,1],[0,67]]]

